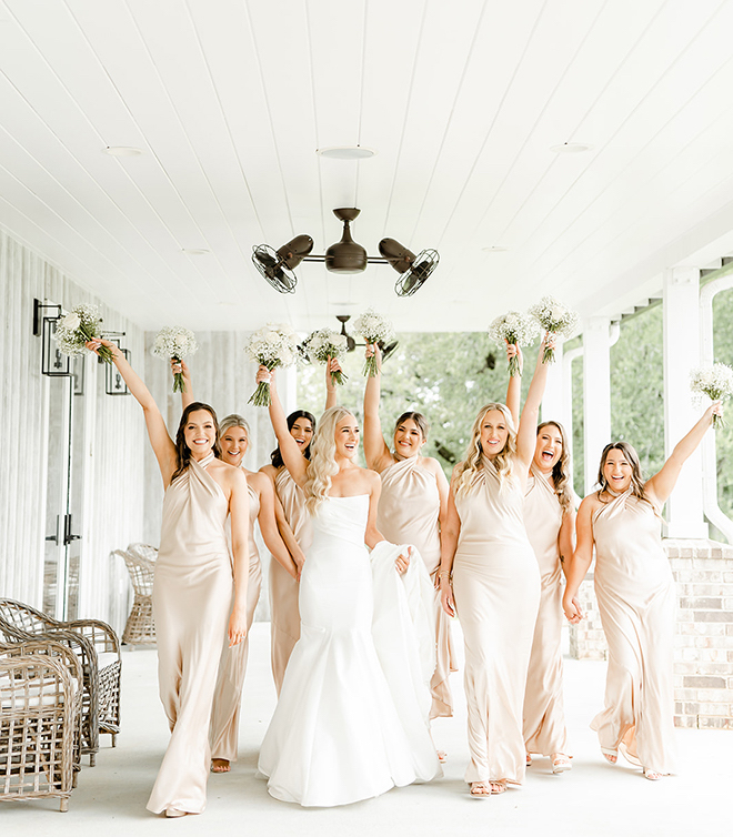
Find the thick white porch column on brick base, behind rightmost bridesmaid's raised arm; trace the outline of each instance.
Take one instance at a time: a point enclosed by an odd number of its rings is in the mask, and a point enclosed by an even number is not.
[[[672,268],[664,273],[664,455],[700,417],[692,404],[690,371],[700,365],[700,271]],[[667,502],[669,537],[707,537],[703,517],[702,456],[685,463]]]

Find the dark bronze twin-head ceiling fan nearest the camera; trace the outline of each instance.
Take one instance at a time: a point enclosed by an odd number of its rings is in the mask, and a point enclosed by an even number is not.
[[[292,241],[274,250],[269,244],[252,248],[252,262],[260,275],[280,293],[294,293],[298,278],[293,270],[303,261],[325,262],[331,273],[361,273],[369,263],[390,264],[400,278],[394,284],[398,296],[412,296],[428,281],[435,270],[440,255],[435,250],[423,250],[418,255],[394,239],[382,239],[379,243],[380,256],[368,255],[364,248],[351,238],[351,222],[361,210],[343,206],[333,210],[333,214],[343,223],[341,241],[325,251],[323,255],[311,255],[313,239],[298,235]]]

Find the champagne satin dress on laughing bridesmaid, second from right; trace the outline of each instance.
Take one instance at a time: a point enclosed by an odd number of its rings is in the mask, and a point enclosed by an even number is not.
[[[528,753],[565,753],[561,636],[562,568],[558,536],[563,512],[550,481],[532,465],[524,495],[524,523],[540,567],[540,609],[534,626],[524,696]]]

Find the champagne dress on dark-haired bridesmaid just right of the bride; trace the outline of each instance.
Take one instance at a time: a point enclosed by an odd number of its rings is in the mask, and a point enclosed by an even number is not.
[[[420,457],[400,460],[384,468],[376,528],[393,544],[413,544],[422,555],[431,577],[440,565],[440,493],[435,476],[420,467]],[[430,682],[431,718],[452,717],[453,697],[448,678],[456,666],[450,617],[435,591],[435,670]]]

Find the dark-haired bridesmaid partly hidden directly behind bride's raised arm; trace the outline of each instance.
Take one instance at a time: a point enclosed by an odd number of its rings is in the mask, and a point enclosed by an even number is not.
[[[331,372],[340,369],[331,361],[325,367],[325,409],[335,406],[335,387]],[[288,431],[307,460],[311,457],[311,441],[315,432],[315,416],[305,410],[295,410],[288,416]],[[260,468],[274,488],[275,517],[282,539],[298,567],[303,567],[305,552],[313,538],[311,518],[305,511],[305,495],[285,467],[280,445],[272,452],[271,464]],[[288,660],[300,638],[300,611],[298,582],[274,561],[270,562],[270,632],[271,665],[275,690],[280,695]]]

